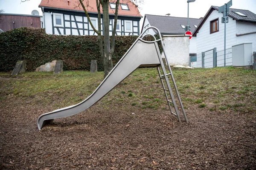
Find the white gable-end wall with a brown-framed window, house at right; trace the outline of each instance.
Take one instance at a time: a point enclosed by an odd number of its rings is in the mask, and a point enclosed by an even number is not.
[[[212,11],[203,26],[197,33],[197,63],[196,67],[201,67],[201,53],[212,48],[217,48],[217,51],[224,50],[224,23],[221,23],[222,13],[217,10]],[[210,21],[218,18],[219,31],[210,34]],[[226,48],[231,48],[236,44],[236,20],[229,17],[229,23],[226,25]]]

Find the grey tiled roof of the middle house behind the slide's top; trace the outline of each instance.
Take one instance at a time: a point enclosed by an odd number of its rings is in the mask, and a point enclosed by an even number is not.
[[[183,17],[170,17],[149,14],[145,14],[145,18],[148,19],[150,26],[158,28],[161,34],[184,34],[185,30],[181,27],[181,25],[187,26],[188,20],[188,18]],[[195,31],[195,26],[198,26],[201,20],[202,19],[189,18],[189,26],[191,27],[192,33]]]

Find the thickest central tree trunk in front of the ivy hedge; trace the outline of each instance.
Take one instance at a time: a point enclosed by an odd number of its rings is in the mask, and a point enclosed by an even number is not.
[[[104,78],[113,69],[112,54],[110,50],[110,39],[109,39],[109,13],[108,13],[108,0],[102,0],[102,12],[103,12],[103,26],[104,26]]]

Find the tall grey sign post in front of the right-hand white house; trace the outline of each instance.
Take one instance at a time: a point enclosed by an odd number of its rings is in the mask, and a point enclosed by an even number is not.
[[[225,3],[224,6],[218,8],[218,12],[223,12],[223,17],[221,18],[221,23],[224,23],[224,66],[226,66],[226,23],[228,23],[229,8],[232,6],[232,0]]]

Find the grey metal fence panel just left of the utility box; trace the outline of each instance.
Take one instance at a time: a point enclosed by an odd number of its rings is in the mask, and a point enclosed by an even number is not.
[[[226,49],[226,57],[224,54],[224,50],[217,51],[216,56],[217,56],[217,67],[232,65],[232,48]]]

